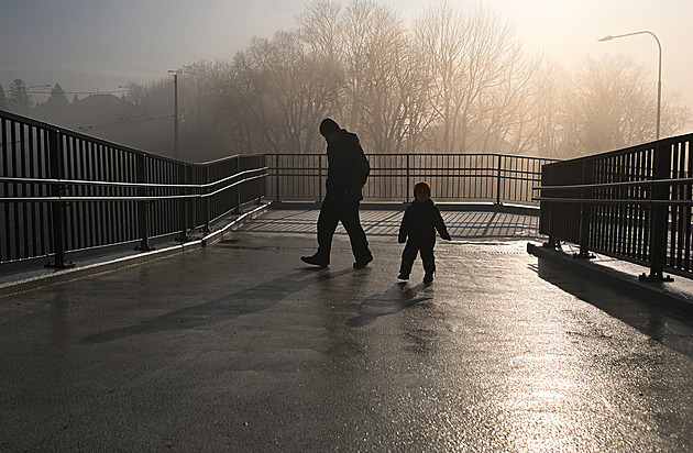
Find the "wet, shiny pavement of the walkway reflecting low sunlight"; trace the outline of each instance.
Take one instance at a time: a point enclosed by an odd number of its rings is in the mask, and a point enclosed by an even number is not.
[[[536,218],[444,214],[430,286],[396,279],[402,212],[363,213],[354,270],[268,211],[1,297],[0,451],[693,449],[691,318],[528,254]]]

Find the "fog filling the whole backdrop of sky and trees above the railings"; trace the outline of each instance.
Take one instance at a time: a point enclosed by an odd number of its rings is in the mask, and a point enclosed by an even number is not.
[[[0,19],[13,43],[0,84],[8,92],[20,79],[31,98],[15,109],[36,118],[170,154],[168,70],[183,69],[179,157],[196,161],[320,151],[323,115],[370,152],[581,155],[654,139],[657,43],[597,43],[652,30],[663,49],[662,136],[691,131],[692,32],[675,26],[691,2],[392,3],[343,2],[321,16],[340,3],[22,2]],[[328,49],[320,29],[330,23],[343,27]],[[446,30],[463,38],[440,41]],[[113,115],[85,113],[86,103]]]

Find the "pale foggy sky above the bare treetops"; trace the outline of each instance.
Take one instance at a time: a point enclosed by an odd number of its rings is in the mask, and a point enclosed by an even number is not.
[[[312,0],[10,0],[0,14],[0,84],[59,82],[73,92],[118,91],[168,69],[231,60],[253,36],[271,38],[296,25]],[[657,80],[658,47],[649,35],[597,43],[605,35],[651,31],[662,45],[664,92],[678,89],[693,108],[692,0],[449,0],[488,7],[516,26],[529,54],[573,70],[586,56],[624,54]],[[409,24],[438,1],[381,0]],[[345,4],[345,1],[342,1]],[[656,92],[656,86],[653,86]],[[32,92],[36,91],[32,89]],[[81,97],[81,96],[80,96]],[[32,93],[34,101],[45,96]]]

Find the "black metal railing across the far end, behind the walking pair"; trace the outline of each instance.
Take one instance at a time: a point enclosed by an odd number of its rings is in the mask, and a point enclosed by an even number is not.
[[[538,206],[532,188],[541,167],[557,159],[504,154],[367,154],[371,175],[367,201],[409,201],[414,185],[427,180],[440,201]],[[324,197],[328,161],[324,153],[267,154],[267,196],[276,200]]]

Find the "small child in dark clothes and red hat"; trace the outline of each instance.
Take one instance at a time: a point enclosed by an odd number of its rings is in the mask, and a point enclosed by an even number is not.
[[[424,283],[430,284],[433,281],[433,273],[436,272],[436,258],[433,256],[436,230],[446,241],[450,241],[451,237],[438,207],[431,200],[431,186],[426,181],[417,183],[414,186],[414,197],[415,200],[407,207],[399,226],[399,243],[404,244],[406,241],[407,245],[402,253],[402,265],[397,278],[409,279],[411,266],[420,251],[424,270],[426,270]]]

